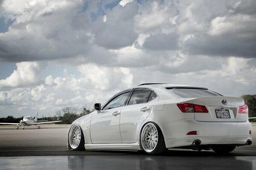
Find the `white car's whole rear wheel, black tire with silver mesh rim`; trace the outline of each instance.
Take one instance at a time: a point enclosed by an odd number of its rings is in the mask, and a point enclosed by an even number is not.
[[[144,125],[140,134],[140,144],[145,153],[153,155],[166,151],[163,133],[154,122]]]

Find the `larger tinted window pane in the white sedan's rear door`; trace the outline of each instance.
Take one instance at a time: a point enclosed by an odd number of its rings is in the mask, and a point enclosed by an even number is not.
[[[136,105],[148,102],[151,91],[134,91],[128,105]]]

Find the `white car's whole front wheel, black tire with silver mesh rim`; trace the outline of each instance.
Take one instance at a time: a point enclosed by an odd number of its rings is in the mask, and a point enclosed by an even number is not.
[[[68,133],[68,149],[85,150],[84,149],[84,134],[79,125],[70,127]]]

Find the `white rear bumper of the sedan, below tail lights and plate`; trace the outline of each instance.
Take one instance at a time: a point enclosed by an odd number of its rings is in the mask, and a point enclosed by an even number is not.
[[[247,122],[198,122],[195,119],[184,119],[159,125],[167,148],[194,146],[195,140],[200,145],[232,144],[246,145],[251,140],[252,129]],[[186,135],[196,131],[197,135]]]

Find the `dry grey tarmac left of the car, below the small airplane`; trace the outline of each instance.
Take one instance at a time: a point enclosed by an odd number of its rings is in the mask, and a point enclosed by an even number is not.
[[[64,150],[70,125],[41,125],[16,129],[0,127],[0,150]]]

